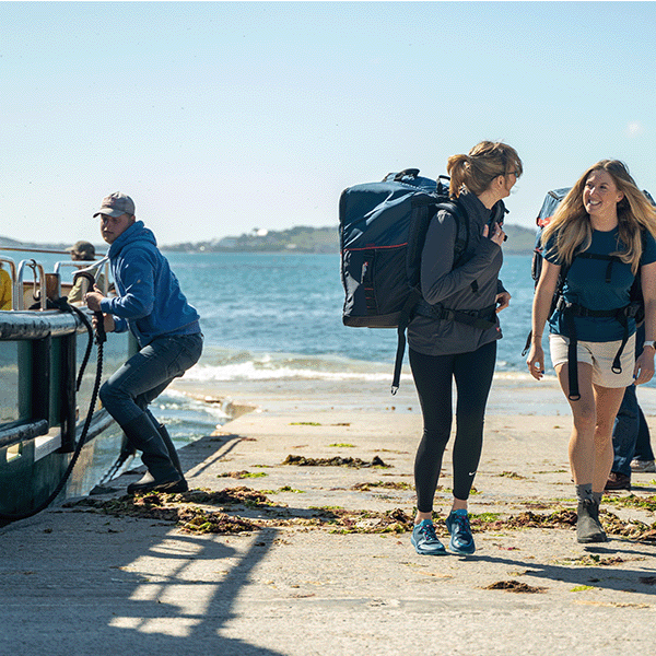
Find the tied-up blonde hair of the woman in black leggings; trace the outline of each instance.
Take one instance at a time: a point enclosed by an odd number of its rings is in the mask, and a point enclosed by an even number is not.
[[[449,194],[457,198],[462,188],[480,196],[500,175],[514,173],[519,177],[524,168],[514,148],[501,141],[481,141],[468,155],[452,155],[446,171],[450,176]]]

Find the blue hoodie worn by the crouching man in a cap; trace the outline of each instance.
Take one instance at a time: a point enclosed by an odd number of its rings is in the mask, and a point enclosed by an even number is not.
[[[200,332],[199,315],[187,303],[155,235],[136,221],[109,247],[109,262],[118,296],[101,302],[114,316],[116,332],[128,328],[141,348],[163,335]]]

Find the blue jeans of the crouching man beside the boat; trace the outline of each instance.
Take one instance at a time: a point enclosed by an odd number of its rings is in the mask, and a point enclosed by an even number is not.
[[[143,412],[150,414],[148,405],[174,378],[192,367],[201,353],[200,332],[154,339],[132,355],[101,387],[103,406],[121,426]]]

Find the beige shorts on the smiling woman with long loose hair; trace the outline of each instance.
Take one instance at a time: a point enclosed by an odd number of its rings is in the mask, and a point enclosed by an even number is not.
[[[635,333],[633,333],[624,350],[620,362],[622,373],[612,371],[612,361],[617,355],[622,340],[612,342],[588,342],[578,341],[576,354],[578,362],[593,365],[593,383],[600,387],[628,387],[633,383],[633,368],[635,367]],[[551,364],[555,368],[559,364],[567,362],[567,347],[570,338],[562,335],[549,335],[549,349],[551,351]]]

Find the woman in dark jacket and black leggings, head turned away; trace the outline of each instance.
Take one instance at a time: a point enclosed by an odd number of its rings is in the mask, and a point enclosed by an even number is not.
[[[446,552],[433,525],[433,497],[450,435],[455,380],[454,500],[446,527],[450,550],[469,555],[476,546],[467,504],[483,443],[496,340],[502,337],[496,313],[511,300],[499,280],[505,239],[501,200],[522,175],[522,160],[505,143],[483,141],[467,155],[449,157],[447,172],[450,196],[469,223],[469,242],[454,268],[457,223],[450,212],[440,210],[431,220],[422,251],[423,301],[408,328],[410,366],[423,415],[414,460],[418,511],[411,542],[421,554]]]

